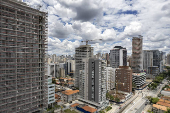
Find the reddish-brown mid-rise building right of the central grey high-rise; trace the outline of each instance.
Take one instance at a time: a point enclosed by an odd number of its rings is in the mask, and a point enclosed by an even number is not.
[[[132,92],[132,69],[129,66],[119,66],[115,72],[115,81],[118,85],[118,90],[123,92]],[[119,84],[123,83],[123,84]]]

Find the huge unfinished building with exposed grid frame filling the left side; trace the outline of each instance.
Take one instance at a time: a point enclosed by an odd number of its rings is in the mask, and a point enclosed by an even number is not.
[[[47,13],[0,0],[0,113],[40,112],[47,106]]]

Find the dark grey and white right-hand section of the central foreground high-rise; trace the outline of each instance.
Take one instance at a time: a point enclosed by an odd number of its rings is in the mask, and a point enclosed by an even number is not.
[[[88,67],[88,100],[96,103],[105,102],[106,62],[90,58]]]

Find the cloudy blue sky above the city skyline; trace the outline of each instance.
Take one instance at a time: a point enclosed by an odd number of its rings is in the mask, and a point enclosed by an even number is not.
[[[170,0],[24,0],[48,12],[48,54],[73,55],[89,42],[94,53],[114,46],[132,52],[132,37],[143,36],[143,50],[170,50]],[[102,39],[101,41],[99,39]]]

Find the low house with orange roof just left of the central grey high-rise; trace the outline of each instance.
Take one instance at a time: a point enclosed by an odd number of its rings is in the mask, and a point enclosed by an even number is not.
[[[77,99],[79,90],[62,91],[61,100],[63,103],[69,103]]]

